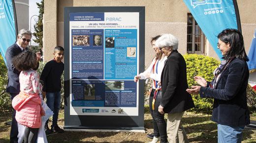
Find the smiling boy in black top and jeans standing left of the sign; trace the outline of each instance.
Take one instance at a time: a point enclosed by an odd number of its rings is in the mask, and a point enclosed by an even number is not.
[[[64,57],[64,48],[57,46],[54,48],[54,59],[47,62],[41,73],[40,79],[43,80],[43,98],[46,96],[46,104],[53,111],[53,123],[51,129],[48,127],[48,121],[45,123],[45,133],[53,132],[63,133],[58,124],[58,115],[61,106],[61,75],[64,71],[62,59]]]

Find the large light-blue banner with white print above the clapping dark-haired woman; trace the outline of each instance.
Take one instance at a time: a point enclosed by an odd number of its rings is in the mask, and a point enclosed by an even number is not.
[[[226,28],[241,31],[237,3],[235,0],[183,0],[202,29],[219,58],[218,34]]]

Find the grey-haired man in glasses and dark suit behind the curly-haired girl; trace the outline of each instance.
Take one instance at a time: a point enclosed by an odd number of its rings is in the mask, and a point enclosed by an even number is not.
[[[6,92],[11,95],[11,99],[13,99],[16,95],[20,93],[20,82],[19,75],[21,71],[15,69],[12,64],[12,59],[19,53],[28,50],[27,46],[31,41],[32,33],[28,29],[21,29],[19,31],[17,42],[12,46],[7,48],[5,53],[7,70],[8,70],[8,83],[6,87]],[[37,60],[40,59],[40,53],[36,53]],[[36,69],[38,69],[39,63]],[[13,109],[14,110],[14,109]],[[12,124],[11,124],[11,132],[10,132],[10,143],[18,143],[18,125],[15,119],[16,111],[14,110],[12,114]]]

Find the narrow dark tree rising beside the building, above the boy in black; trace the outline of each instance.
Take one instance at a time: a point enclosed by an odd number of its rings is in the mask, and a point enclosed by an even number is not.
[[[35,43],[39,44],[39,48],[43,47],[43,13],[44,13],[44,0],[41,2],[36,2],[37,7],[39,8],[38,21],[34,25],[34,33],[35,39],[33,40]]]

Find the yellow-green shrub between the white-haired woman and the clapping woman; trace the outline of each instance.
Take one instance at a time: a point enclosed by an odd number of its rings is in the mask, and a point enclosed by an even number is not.
[[[212,81],[213,71],[219,66],[220,62],[216,59],[204,55],[186,54],[184,59],[187,64],[187,79],[189,88],[197,85],[194,76],[202,76],[207,81]],[[192,111],[211,113],[213,108],[213,99],[201,98],[199,95],[192,95],[195,108]]]

